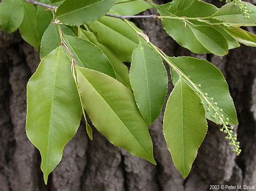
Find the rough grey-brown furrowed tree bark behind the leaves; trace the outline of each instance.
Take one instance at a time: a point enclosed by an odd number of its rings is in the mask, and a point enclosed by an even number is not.
[[[149,13],[155,12],[145,12]],[[167,36],[158,21],[142,19],[136,23],[167,54],[199,56],[222,70],[237,108],[240,123],[235,131],[241,143],[241,155],[237,157],[224,134],[219,132],[219,127],[209,123],[192,170],[183,180],[166,148],[162,134],[163,113],[150,127],[157,166],[113,146],[95,129],[91,142],[81,123],[77,135],[65,147],[62,161],[50,175],[48,186],[45,186],[40,154],[25,135],[26,83],[39,63],[38,53],[17,32],[6,34],[0,31],[1,191],[188,191],[208,190],[209,185],[256,186],[255,48],[241,46],[224,57],[194,55]],[[170,92],[172,85],[169,84]]]

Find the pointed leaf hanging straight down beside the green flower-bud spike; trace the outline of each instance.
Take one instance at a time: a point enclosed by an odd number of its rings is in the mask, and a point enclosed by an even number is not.
[[[172,160],[185,179],[207,132],[199,96],[180,77],[172,90],[164,114],[163,132]]]

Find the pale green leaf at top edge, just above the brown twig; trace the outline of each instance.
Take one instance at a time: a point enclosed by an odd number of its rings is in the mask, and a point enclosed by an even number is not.
[[[152,8],[152,5],[145,1],[127,1],[115,4],[110,12],[120,15],[137,15],[147,9]]]

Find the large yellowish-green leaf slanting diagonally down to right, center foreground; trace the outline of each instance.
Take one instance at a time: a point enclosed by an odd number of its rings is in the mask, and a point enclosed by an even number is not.
[[[149,130],[132,92],[110,76],[78,69],[84,109],[95,128],[112,144],[156,164]]]

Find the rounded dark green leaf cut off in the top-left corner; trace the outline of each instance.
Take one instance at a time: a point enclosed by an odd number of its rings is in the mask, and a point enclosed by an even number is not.
[[[14,32],[21,25],[23,16],[21,0],[2,0],[0,3],[0,23],[3,31]]]

